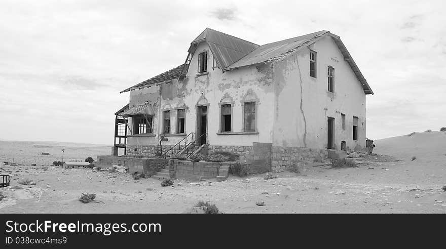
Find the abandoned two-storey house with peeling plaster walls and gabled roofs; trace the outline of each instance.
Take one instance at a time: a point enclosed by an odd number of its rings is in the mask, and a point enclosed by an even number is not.
[[[340,36],[324,30],[259,46],[206,28],[188,52],[121,92],[130,101],[115,113],[114,155],[224,150],[280,171],[327,149],[365,147],[373,91]]]

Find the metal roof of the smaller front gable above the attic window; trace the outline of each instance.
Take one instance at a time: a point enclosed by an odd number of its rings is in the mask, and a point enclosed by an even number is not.
[[[202,41],[209,44],[209,49],[221,68],[232,65],[259,47],[247,40],[206,28],[192,41],[189,53],[193,54]]]

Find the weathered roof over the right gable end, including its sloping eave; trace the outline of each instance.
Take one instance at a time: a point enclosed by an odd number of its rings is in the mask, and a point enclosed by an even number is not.
[[[311,34],[306,34],[290,39],[276,41],[275,43],[270,43],[266,45],[262,45],[256,48],[254,51],[235,62],[234,64],[224,68],[224,71],[232,70],[239,67],[255,65],[259,63],[267,63],[271,61],[276,61],[279,59],[283,59],[284,57],[290,55],[291,53],[298,51],[302,48],[305,48],[313,43],[316,40],[329,35],[333,38],[334,43],[338,46],[342,55],[344,56],[344,60],[352,68],[359,82],[361,82],[362,89],[365,94],[373,94],[370,86],[367,84],[367,80],[362,75],[356,63],[353,61],[350,53],[345,47],[344,43],[341,41],[341,38],[335,34],[330,33],[329,31],[322,30]]]

